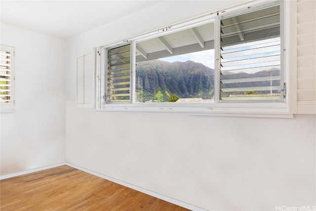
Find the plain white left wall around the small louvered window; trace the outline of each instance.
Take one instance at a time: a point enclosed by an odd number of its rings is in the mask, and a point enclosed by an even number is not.
[[[15,47],[15,109],[0,114],[1,175],[65,162],[65,41],[1,23]]]

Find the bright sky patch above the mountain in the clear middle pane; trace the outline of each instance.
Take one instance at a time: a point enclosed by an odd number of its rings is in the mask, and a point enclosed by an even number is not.
[[[202,63],[203,65],[214,69],[214,49],[160,58],[160,60],[167,62],[186,62],[188,60],[191,60],[197,63]]]

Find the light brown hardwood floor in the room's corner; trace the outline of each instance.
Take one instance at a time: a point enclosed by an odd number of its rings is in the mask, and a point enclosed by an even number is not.
[[[0,187],[1,211],[188,211],[69,166],[3,179]]]

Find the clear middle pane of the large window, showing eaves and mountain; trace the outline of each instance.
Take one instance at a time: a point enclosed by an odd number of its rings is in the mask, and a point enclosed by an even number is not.
[[[214,102],[214,24],[136,45],[136,102]]]

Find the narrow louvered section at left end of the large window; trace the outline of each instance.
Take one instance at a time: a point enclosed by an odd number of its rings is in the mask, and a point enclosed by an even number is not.
[[[130,44],[108,50],[108,102],[130,102]]]

